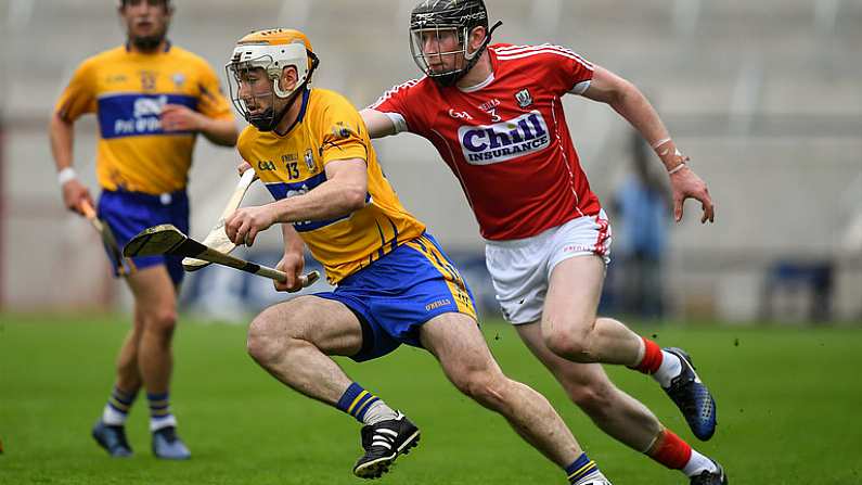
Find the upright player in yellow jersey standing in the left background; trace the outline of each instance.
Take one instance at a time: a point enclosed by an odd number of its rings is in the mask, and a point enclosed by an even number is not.
[[[127,29],[126,44],[80,64],[56,104],[49,130],[63,201],[69,209],[83,213],[82,204],[92,205],[92,200],[72,168],[73,125],[79,116],[95,113],[95,166],[102,188],[98,214],[121,247],[140,230],[157,224],[188,231],[185,186],[196,135],[233,146],[236,127],[209,65],[166,39],[173,12],[170,0],[123,0],[118,12]],[[111,456],[131,455],[126,417],[143,387],[153,452],[158,458],[186,459],[189,449],[177,437],[169,407],[171,336],[182,267],[176,257],[136,258],[134,264],[138,270],[126,279],[134,295],[134,324],[120,349],[116,383],[92,435]]]

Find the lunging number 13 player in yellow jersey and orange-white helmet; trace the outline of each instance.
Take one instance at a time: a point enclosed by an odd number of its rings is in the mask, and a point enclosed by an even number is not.
[[[250,245],[280,224],[279,267],[288,278],[276,289],[298,288],[305,246],[336,285],[263,310],[248,330],[249,354],[282,383],[364,424],[357,476],[388,471],[420,432],[330,356],[363,361],[401,344],[427,349],[459,390],[501,413],[557,465],[569,465],[581,455],[578,443],[544,397],[503,375],[466,283],[401,206],[359,113],[342,95],[309,88],[317,65],[306,36],[287,29],[245,36],[228,64],[234,104],[252,124],[237,148],[275,199],[236,210],[228,235]]]

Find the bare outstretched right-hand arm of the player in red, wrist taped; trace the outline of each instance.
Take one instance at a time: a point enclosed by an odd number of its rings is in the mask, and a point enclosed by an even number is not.
[[[702,224],[707,220],[713,221],[715,205],[706,183],[689,167],[686,164],[689,157],[680,153],[658,113],[634,85],[601,66],[595,66],[590,87],[582,95],[610,105],[656,151],[670,174],[673,192],[673,218],[677,222],[682,220],[682,206],[686,199],[695,199],[700,202]]]

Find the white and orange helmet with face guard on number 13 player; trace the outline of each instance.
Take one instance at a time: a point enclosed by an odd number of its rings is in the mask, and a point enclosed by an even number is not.
[[[246,38],[254,37],[254,40],[241,40],[233,50],[231,61],[224,66],[230,97],[234,107],[243,115],[246,122],[261,131],[275,129],[284,113],[294,104],[296,98],[305,91],[311,81],[311,75],[320,64],[318,56],[311,52],[310,44],[303,41],[305,36],[290,43],[272,43],[267,40],[257,40],[266,38],[267,35],[294,36],[292,33],[294,31],[278,29],[249,34]],[[283,69],[288,66],[296,68],[297,81],[293,89],[285,91],[281,88],[279,80]],[[252,98],[269,100],[269,105],[265,111],[252,114],[246,100],[240,97],[240,88],[245,82],[244,77],[256,69],[262,69],[263,81],[271,84],[271,89],[266,93],[252,93]],[[280,99],[286,99],[287,102],[283,107],[276,110],[275,103]]]

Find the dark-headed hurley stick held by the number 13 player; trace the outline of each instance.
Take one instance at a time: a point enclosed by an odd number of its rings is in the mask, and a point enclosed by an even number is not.
[[[175,256],[192,257],[207,263],[215,263],[231,268],[247,271],[282,283],[287,281],[287,273],[274,268],[249,263],[235,256],[216,251],[213,247],[201,244],[200,242],[183,234],[182,231],[170,224],[163,224],[144,229],[132,238],[123,254],[133,256],[154,256],[159,254],[171,254]],[[299,277],[301,288],[309,286],[320,279],[318,271],[311,271]]]

